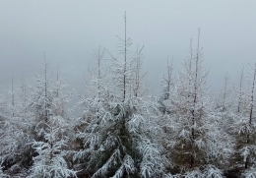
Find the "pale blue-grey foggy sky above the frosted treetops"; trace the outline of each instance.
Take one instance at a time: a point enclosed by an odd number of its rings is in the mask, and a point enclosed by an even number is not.
[[[226,72],[231,83],[242,64],[256,62],[256,1],[236,0],[1,0],[0,89],[10,89],[12,71],[18,85],[42,72],[43,51],[56,71],[77,89],[98,46],[116,52],[116,35],[127,35],[144,48],[144,68],[153,94],[160,94],[166,59],[174,70],[188,56],[190,38],[201,29],[204,66],[211,89],[221,88]],[[194,43],[194,45],[196,45]]]

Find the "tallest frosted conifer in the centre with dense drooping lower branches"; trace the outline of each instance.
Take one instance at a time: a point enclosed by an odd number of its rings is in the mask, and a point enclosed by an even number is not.
[[[136,52],[137,58],[128,59],[130,39],[126,38],[126,29],[125,39],[120,40],[123,42],[124,61],[112,56],[110,70],[114,77],[110,80],[115,82],[113,88],[121,92],[102,88],[102,82],[92,84],[95,93],[84,99],[87,103],[83,116],[86,127],[77,135],[82,148],[74,159],[81,166],[87,166],[87,170],[93,173],[92,177],[158,177],[163,175],[167,160],[161,155],[162,148],[155,142],[155,132],[152,132],[156,129],[153,104],[141,97],[143,76],[138,59],[141,50]],[[97,61],[101,58],[98,54]],[[134,68],[129,62],[135,62],[135,59],[138,63]],[[102,79],[98,75],[101,74],[99,66],[98,70],[96,81]]]

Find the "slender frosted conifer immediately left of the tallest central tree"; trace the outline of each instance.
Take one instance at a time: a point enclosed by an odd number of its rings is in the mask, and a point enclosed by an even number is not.
[[[88,134],[93,132],[95,137],[97,136],[99,132],[98,125],[109,108],[109,100],[114,99],[112,92],[107,89],[107,76],[102,70],[103,66],[105,66],[102,61],[103,54],[104,49],[101,51],[100,47],[95,52],[96,68],[89,70],[90,78],[86,81],[88,93],[79,102],[79,106],[84,110],[83,115],[74,124],[77,138],[74,162],[77,164],[77,169],[80,170],[80,173],[86,171],[85,167],[88,166],[89,161],[88,156],[93,151],[93,149],[87,149],[86,140],[90,139]],[[94,128],[93,131],[91,131],[90,127]]]

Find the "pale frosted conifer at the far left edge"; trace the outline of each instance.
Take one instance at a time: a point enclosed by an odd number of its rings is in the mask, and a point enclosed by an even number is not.
[[[6,96],[5,104],[2,106],[7,112],[3,112],[0,119],[0,157],[5,173],[15,176],[32,164],[32,150],[26,145],[31,137],[29,130],[31,115],[30,112],[26,112],[28,105],[23,88],[14,89],[12,85],[11,94]]]

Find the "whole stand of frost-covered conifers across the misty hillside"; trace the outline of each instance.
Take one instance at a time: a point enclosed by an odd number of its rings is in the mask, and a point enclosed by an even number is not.
[[[118,55],[96,50],[85,95],[49,75],[45,53],[33,87],[2,93],[0,177],[256,178],[256,65],[211,95],[199,30],[183,69],[166,62],[152,96],[143,47],[131,50],[124,31]]]

